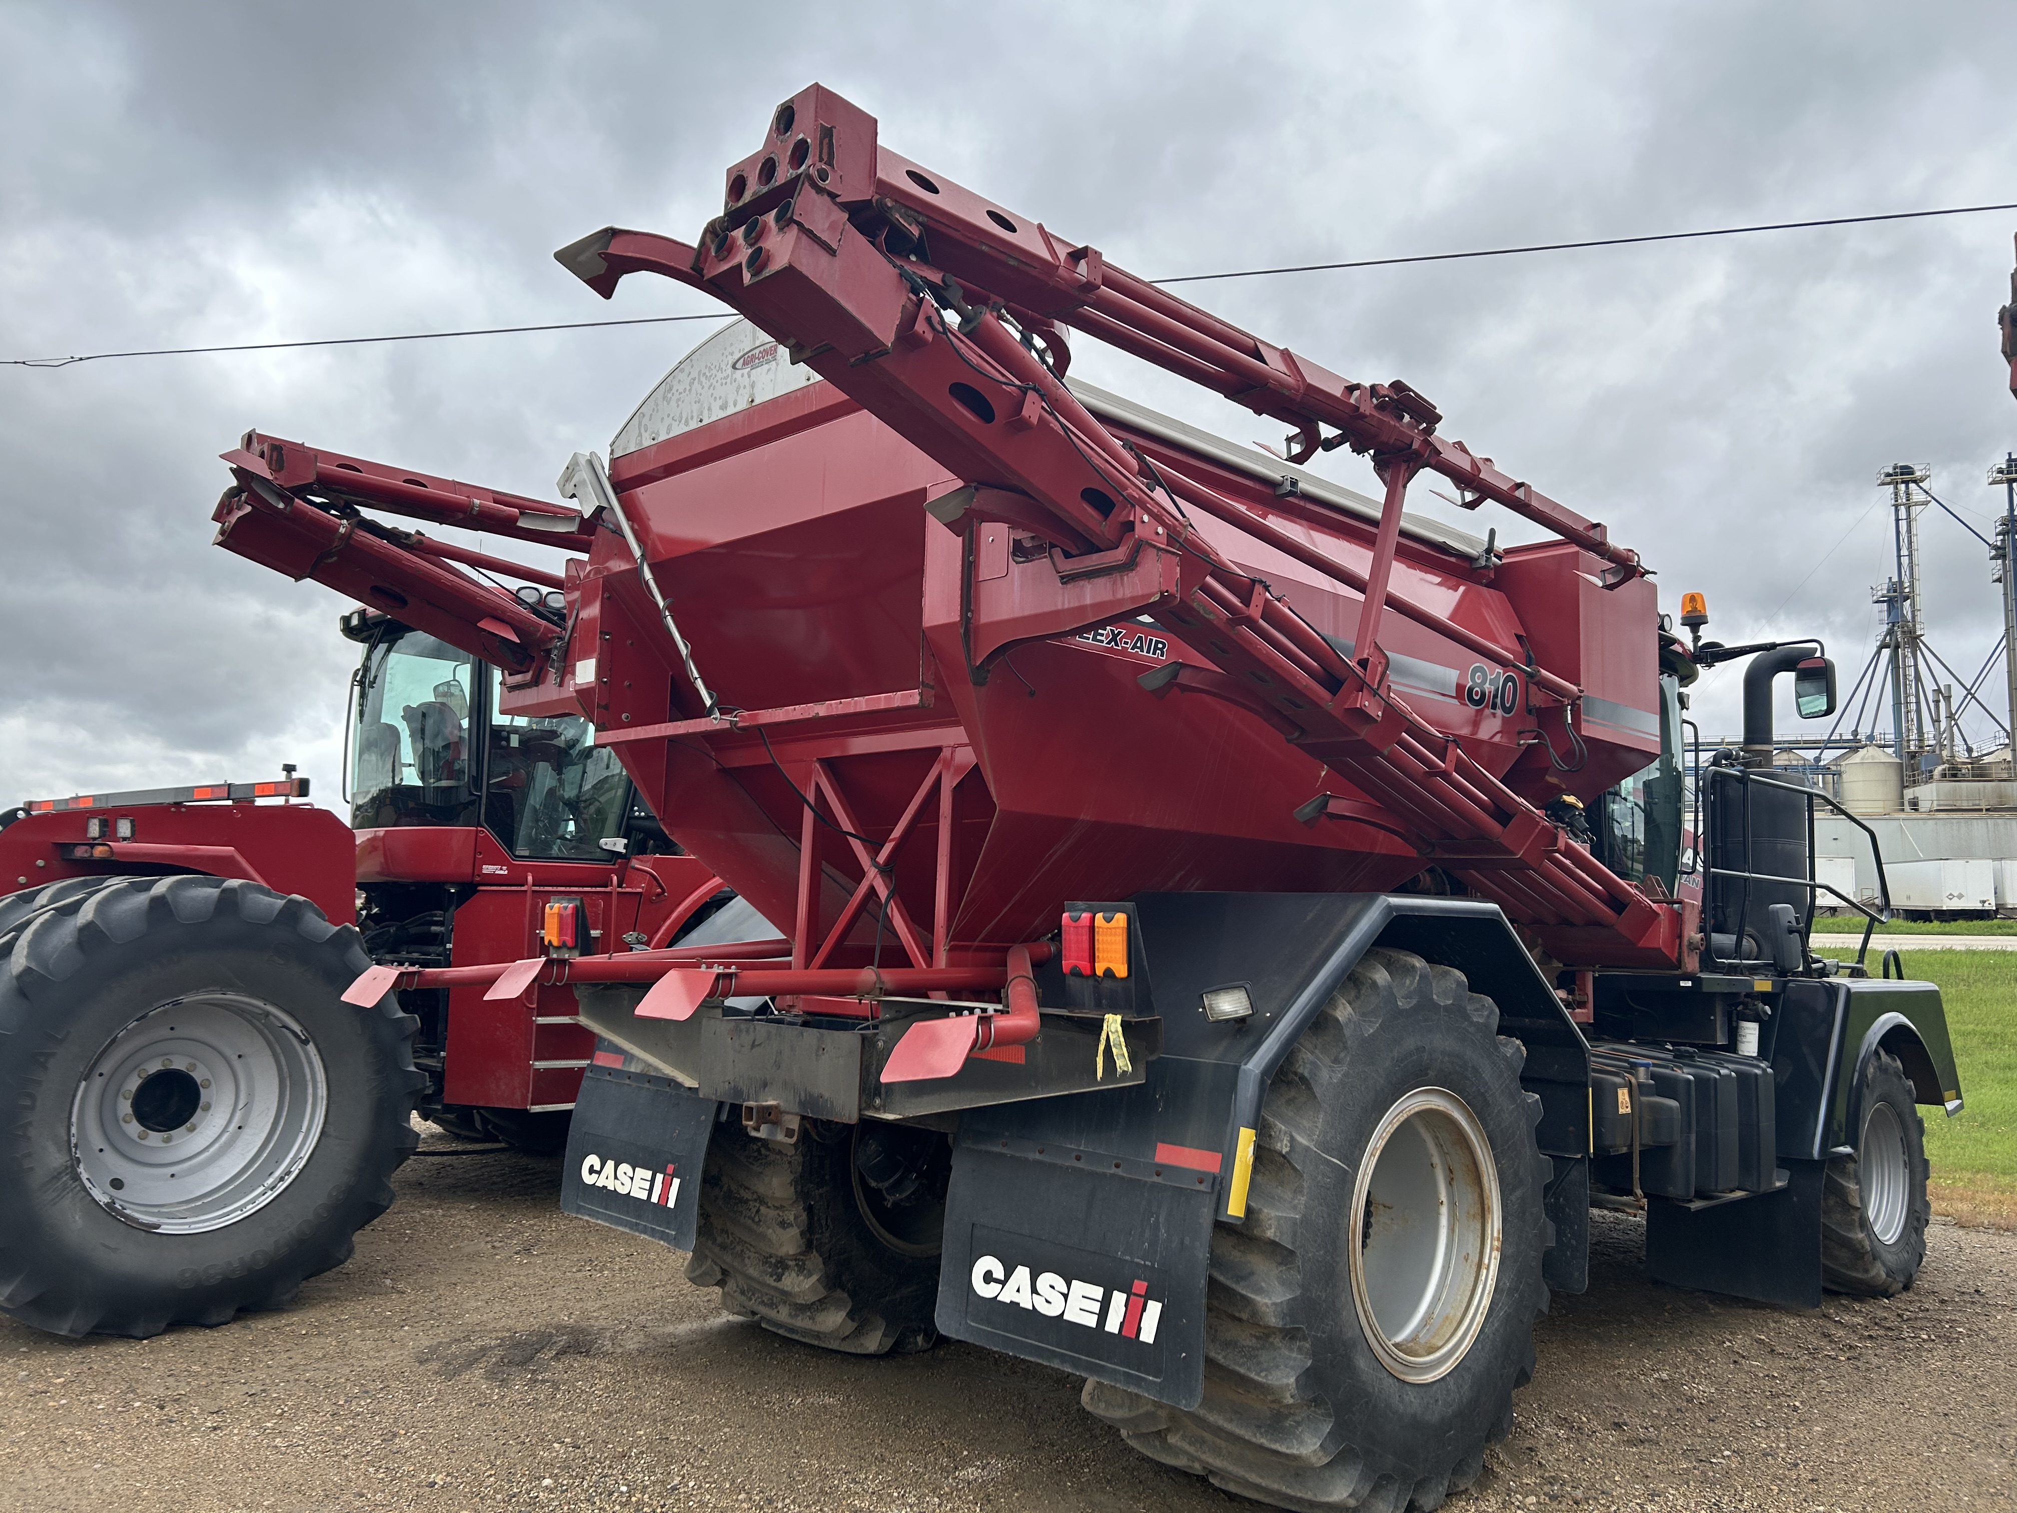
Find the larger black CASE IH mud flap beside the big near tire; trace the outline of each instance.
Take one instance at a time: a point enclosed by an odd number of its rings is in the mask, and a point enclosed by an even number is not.
[[[1196,1170],[1158,1174],[1041,1134],[962,1132],[938,1329],[1196,1408],[1218,1202],[1218,1178]]]

